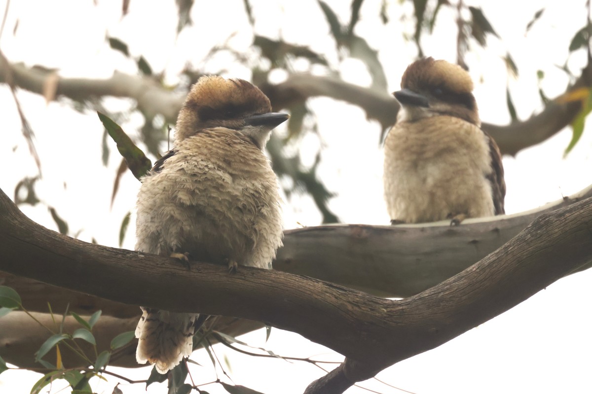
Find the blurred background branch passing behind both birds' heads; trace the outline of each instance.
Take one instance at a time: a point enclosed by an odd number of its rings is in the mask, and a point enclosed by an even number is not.
[[[65,96],[75,100],[94,97],[130,97],[137,101],[138,108],[152,118],[162,114],[166,121],[174,123],[184,97],[166,90],[147,77],[114,73],[109,79],[61,78],[54,71],[30,68],[24,64],[9,64],[0,58],[0,82],[5,81],[5,72],[10,67],[15,86],[44,95],[44,83],[57,79],[56,92],[52,98]],[[585,67],[574,86],[592,85],[592,66]],[[302,103],[309,97],[326,96],[342,100],[365,110],[369,119],[381,123],[382,128],[395,123],[399,105],[387,92],[377,93],[371,89],[343,82],[342,80],[311,74],[291,74],[278,84],[260,83],[259,87],[269,96],[276,110]],[[503,154],[514,155],[520,150],[539,144],[569,125],[580,111],[580,102],[558,103],[552,100],[542,112],[523,122],[506,126],[483,123],[482,128],[490,133]]]

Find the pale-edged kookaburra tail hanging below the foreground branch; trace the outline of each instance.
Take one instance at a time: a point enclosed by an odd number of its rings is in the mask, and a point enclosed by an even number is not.
[[[199,315],[151,308],[142,311],[136,327],[136,360],[140,364],[155,364],[156,370],[164,374],[191,355],[194,322]]]

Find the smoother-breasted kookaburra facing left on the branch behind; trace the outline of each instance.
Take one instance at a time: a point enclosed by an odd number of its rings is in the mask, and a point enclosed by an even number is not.
[[[391,223],[504,213],[500,149],[480,129],[469,74],[431,57],[407,67],[397,123],[384,143],[384,196]]]

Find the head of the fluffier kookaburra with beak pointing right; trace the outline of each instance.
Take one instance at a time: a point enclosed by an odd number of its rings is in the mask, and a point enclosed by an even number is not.
[[[223,127],[249,136],[263,149],[272,129],[289,118],[271,112],[271,103],[258,87],[242,79],[201,77],[185,99],[177,119],[175,139],[182,141],[204,129]]]

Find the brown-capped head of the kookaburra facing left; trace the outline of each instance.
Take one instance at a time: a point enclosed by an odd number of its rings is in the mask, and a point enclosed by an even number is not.
[[[393,95],[403,107],[399,121],[417,121],[449,115],[480,125],[473,82],[461,66],[445,60],[423,58],[411,63]]]

